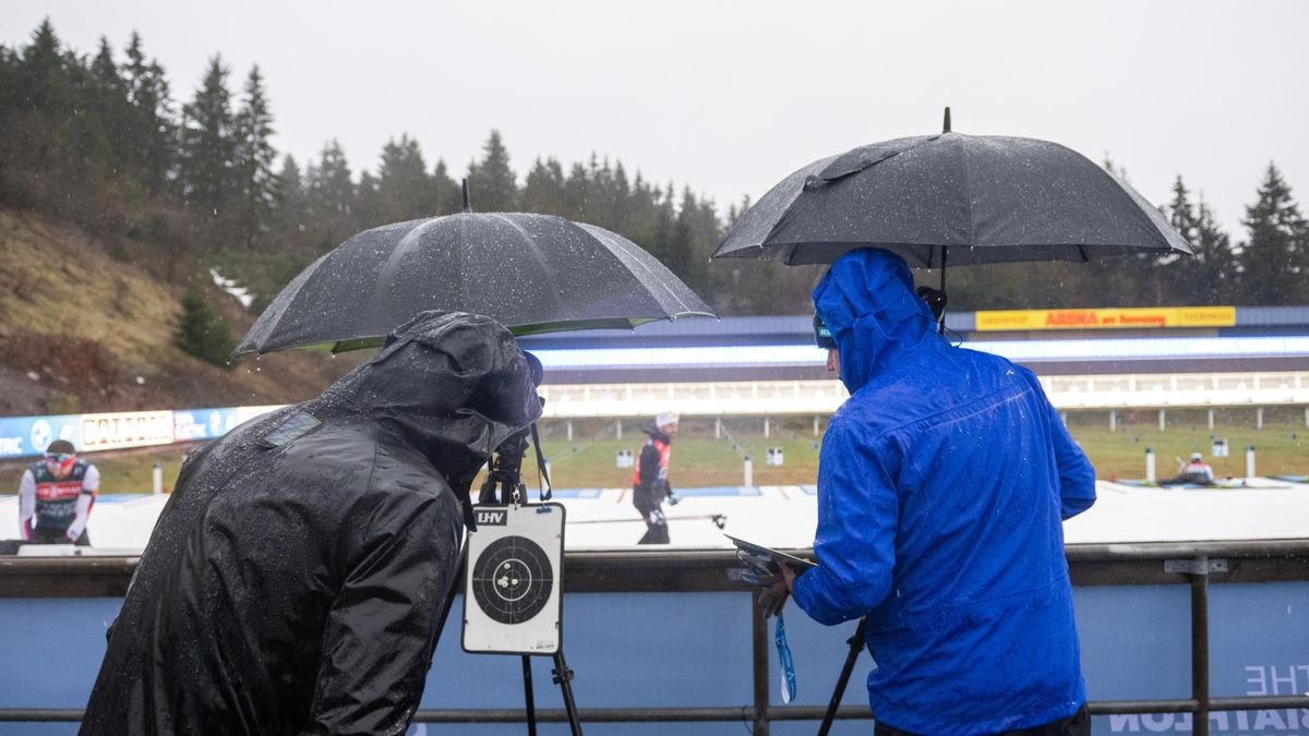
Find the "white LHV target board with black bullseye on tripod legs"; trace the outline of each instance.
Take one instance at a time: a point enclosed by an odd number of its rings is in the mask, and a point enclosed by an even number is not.
[[[463,591],[463,651],[522,656],[528,733],[537,732],[531,656],[554,657],[568,723],[581,724],[573,673],[563,653],[564,507],[558,503],[479,504],[469,534]]]

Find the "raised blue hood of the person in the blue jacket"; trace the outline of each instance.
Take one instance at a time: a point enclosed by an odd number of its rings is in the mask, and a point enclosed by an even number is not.
[[[924,340],[935,340],[932,310],[914,293],[903,258],[878,248],[846,253],[814,287],[814,309],[840,351],[840,380],[861,389]]]

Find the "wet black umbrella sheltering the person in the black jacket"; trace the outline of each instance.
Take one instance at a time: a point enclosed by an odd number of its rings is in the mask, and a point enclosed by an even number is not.
[[[484,314],[525,335],[713,312],[630,240],[550,215],[473,213],[364,230],[297,275],[233,355],[381,344],[418,312]]]

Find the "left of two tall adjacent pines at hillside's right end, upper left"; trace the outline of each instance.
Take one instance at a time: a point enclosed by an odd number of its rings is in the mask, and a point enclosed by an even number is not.
[[[195,98],[182,109],[182,195],[202,216],[223,219],[240,194],[236,119],[226,79],[221,56],[213,56]]]

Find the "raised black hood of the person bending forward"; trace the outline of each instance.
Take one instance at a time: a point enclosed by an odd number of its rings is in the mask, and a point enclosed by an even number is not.
[[[499,322],[423,312],[304,409],[372,419],[466,492],[491,452],[541,416],[541,399],[528,359]]]

